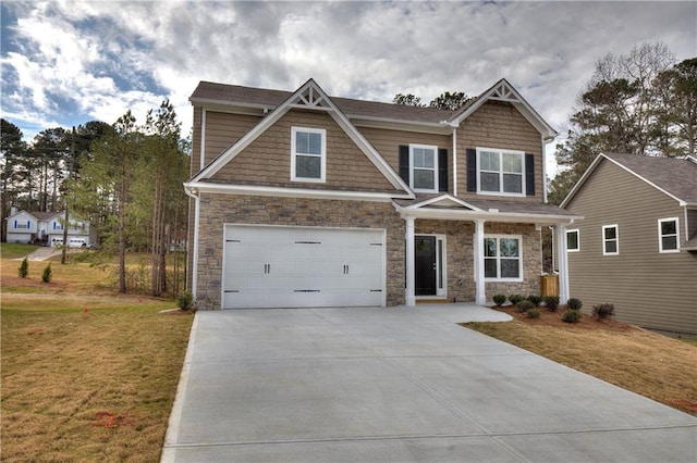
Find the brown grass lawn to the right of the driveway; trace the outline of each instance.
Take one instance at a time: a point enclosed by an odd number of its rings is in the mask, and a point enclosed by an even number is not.
[[[697,415],[697,345],[588,315],[563,323],[562,309],[541,308],[540,318],[500,310],[515,320],[464,326]]]

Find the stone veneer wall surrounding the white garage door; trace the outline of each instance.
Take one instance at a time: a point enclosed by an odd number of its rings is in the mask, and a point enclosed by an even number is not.
[[[404,303],[405,223],[391,203],[201,195],[200,208],[198,309],[221,306],[225,224],[383,228],[387,230],[387,304]]]

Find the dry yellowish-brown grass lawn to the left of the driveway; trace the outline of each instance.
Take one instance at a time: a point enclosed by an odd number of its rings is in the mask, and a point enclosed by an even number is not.
[[[3,293],[0,460],[158,461],[193,320],[175,306]]]

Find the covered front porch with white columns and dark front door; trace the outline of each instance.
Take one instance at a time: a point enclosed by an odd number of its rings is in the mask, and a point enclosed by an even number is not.
[[[407,306],[421,300],[484,305],[496,293],[539,295],[540,230],[550,225],[561,243],[560,301],[566,302],[565,229],[575,217],[547,204],[496,205],[485,210],[450,195],[396,204],[406,224]]]

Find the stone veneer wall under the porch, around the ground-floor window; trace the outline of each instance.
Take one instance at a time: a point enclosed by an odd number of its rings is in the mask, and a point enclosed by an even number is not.
[[[476,297],[474,223],[416,220],[415,233],[416,235],[445,235],[448,299],[474,301]],[[523,281],[487,283],[487,300],[490,301],[493,295],[499,292],[504,295],[538,295],[542,262],[540,232],[535,229],[535,225],[486,223],[485,234],[521,235],[523,238]]]

